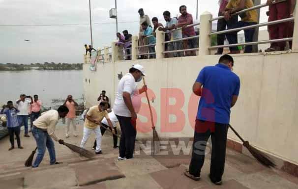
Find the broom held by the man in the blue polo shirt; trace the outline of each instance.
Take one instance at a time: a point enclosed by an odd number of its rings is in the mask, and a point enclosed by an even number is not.
[[[244,139],[235,131],[235,129],[229,124],[229,127],[232,129],[232,131],[240,138],[240,140],[243,142],[243,146],[247,148],[247,150],[251,153],[251,155],[257,159],[258,162],[261,164],[267,166],[267,167],[275,167],[275,163],[270,160],[270,158],[264,154],[263,152],[259,151],[258,149],[252,147],[249,142]]]

